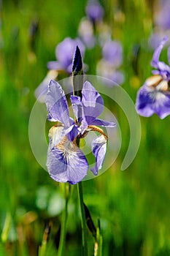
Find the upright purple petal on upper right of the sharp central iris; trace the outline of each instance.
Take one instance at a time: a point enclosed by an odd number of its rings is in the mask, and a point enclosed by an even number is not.
[[[104,110],[104,100],[88,81],[83,84],[82,88],[82,108],[87,124],[92,124]]]

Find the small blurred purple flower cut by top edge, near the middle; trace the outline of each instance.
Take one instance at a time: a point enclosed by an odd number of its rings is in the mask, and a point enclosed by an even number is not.
[[[85,8],[86,15],[93,23],[100,21],[104,16],[104,9],[98,0],[89,0]]]

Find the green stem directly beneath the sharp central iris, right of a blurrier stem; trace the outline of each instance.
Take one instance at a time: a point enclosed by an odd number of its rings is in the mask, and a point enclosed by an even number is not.
[[[80,214],[82,221],[82,256],[88,256],[88,243],[87,243],[87,233],[86,233],[86,220],[85,220],[85,208],[83,203],[82,195],[82,182],[77,184],[77,191],[80,200]]]

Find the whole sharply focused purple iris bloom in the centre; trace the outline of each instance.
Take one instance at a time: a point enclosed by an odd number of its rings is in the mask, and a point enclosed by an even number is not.
[[[69,116],[66,96],[60,84],[51,80],[46,97],[48,120],[59,121],[50,129],[50,144],[47,153],[47,169],[50,176],[59,182],[77,184],[88,173],[88,162],[77,146],[78,141],[90,131],[99,132],[100,136],[92,141],[92,151],[96,158],[91,168],[94,175],[104,162],[107,148],[107,135],[96,127],[115,127],[115,123],[97,117],[104,109],[104,102],[98,91],[86,81],[82,88],[82,97],[71,96],[75,120]]]

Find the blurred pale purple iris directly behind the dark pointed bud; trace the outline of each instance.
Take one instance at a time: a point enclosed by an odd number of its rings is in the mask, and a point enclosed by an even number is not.
[[[55,56],[58,61],[49,61],[47,63],[48,69],[64,70],[69,74],[72,73],[72,58],[76,46],[79,45],[82,57],[85,53],[85,45],[82,44],[80,39],[72,39],[66,37],[55,48]]]

